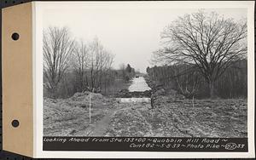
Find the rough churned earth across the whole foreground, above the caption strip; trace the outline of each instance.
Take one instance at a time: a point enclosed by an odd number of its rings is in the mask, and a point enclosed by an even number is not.
[[[91,122],[88,97],[92,96]],[[120,103],[101,94],[44,100],[44,136],[247,137],[247,100]]]

